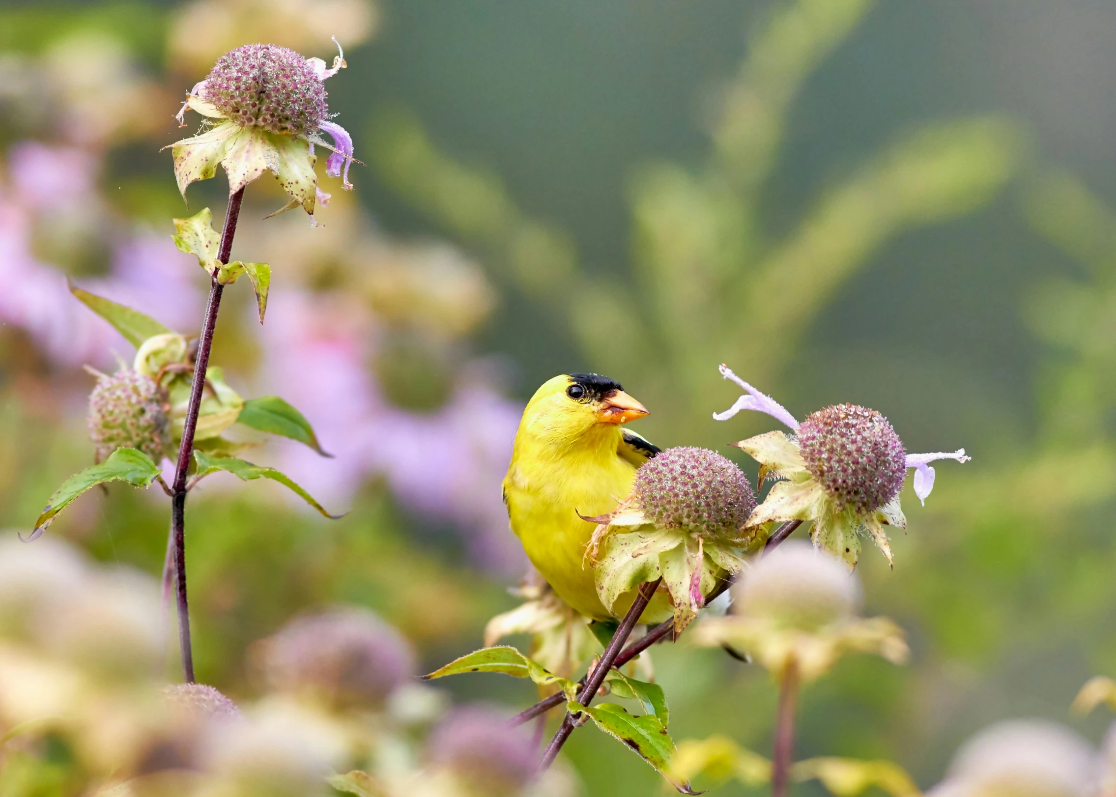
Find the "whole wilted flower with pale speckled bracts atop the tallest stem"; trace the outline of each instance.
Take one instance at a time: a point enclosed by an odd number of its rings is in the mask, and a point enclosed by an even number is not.
[[[212,177],[218,164],[229,176],[230,195],[270,171],[290,195],[282,210],[301,205],[312,218],[318,193],[315,146],[331,150],[326,174],[344,173],[343,185],[352,189],[353,138],[329,121],[323,85],[344,66],[344,52],[327,69],[320,58],[304,58],[276,45],[244,45],[221,56],[179,112],[180,122],[186,108],[213,119],[198,135],[171,145],[182,195],[195,180]]]

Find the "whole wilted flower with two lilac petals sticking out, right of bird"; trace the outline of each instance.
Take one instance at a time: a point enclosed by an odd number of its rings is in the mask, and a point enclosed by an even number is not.
[[[767,432],[735,443],[760,463],[760,480],[778,477],[767,499],[752,513],[749,528],[787,520],[812,520],[810,538],[850,567],[860,555],[860,532],[872,536],[892,561],[884,526],[906,528],[899,493],[908,468],[914,491],[925,502],[934,487],[931,462],[966,462],[964,449],[951,453],[908,454],[887,419],[875,410],[837,404],[808,415],[802,423],[770,396],[721,366],[721,374],[748,393],[722,413],[725,421],[741,410],[764,412],[795,434]]]

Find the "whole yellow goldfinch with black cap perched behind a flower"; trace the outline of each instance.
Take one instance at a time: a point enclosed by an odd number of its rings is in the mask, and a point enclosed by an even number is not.
[[[527,403],[503,479],[511,530],[527,557],[566,603],[596,620],[610,613],[597,597],[585,548],[595,526],[580,516],[604,515],[632,491],[636,469],[658,453],[622,424],[647,410],[619,383],[597,374],[562,374]],[[634,593],[617,601],[622,616]],[[655,596],[642,622],[672,614],[670,597]]]

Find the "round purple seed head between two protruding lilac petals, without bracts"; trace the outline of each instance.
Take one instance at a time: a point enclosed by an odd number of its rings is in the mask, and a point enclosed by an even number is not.
[[[879,509],[903,489],[906,453],[887,419],[875,410],[837,404],[807,416],[798,444],[838,511]]]

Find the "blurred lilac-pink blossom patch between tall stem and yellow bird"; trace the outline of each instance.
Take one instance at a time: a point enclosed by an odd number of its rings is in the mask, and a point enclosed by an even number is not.
[[[338,301],[288,292],[269,304],[267,390],[297,406],[335,457],[288,445],[281,468],[327,505],[382,474],[408,509],[456,525],[478,565],[520,573],[500,482],[522,407],[468,373],[436,412],[393,406],[366,367],[369,319]]]

